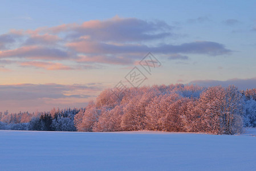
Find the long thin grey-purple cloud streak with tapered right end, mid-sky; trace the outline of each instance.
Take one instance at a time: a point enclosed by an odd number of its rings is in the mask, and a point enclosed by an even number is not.
[[[141,44],[116,45],[81,40],[79,42],[68,43],[67,47],[84,54],[145,54],[150,51],[160,54],[185,53],[223,55],[231,52],[231,50],[226,49],[223,44],[206,41],[183,43],[180,45],[160,44],[158,46],[149,47]]]

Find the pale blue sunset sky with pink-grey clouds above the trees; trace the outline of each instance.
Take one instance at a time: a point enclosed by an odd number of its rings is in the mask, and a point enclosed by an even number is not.
[[[256,87],[255,1],[1,1],[0,111],[85,107],[153,84]],[[147,72],[140,64],[159,63]],[[145,57],[145,58],[144,58]],[[153,64],[153,63],[152,63]]]

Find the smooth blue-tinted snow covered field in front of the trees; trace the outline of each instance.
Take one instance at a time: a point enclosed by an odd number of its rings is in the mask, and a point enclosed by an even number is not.
[[[255,135],[0,131],[0,170],[255,170]]]

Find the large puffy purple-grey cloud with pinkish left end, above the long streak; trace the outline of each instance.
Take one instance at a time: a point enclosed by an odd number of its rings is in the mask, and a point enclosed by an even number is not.
[[[61,25],[49,28],[53,32],[72,31],[69,37],[89,35],[92,40],[135,42],[156,40],[172,35],[172,26],[162,21],[148,22],[137,18],[114,17],[105,21],[87,21],[82,25]]]

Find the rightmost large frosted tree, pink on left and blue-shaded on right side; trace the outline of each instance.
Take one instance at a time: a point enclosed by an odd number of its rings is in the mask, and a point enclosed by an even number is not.
[[[237,87],[210,87],[202,92],[198,106],[203,131],[234,134],[242,131],[243,98]]]

